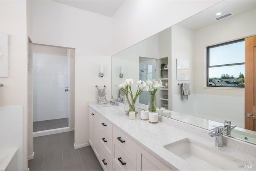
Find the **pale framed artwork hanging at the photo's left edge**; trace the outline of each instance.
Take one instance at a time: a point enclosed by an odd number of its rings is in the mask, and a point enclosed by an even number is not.
[[[8,77],[8,34],[0,33],[0,77]]]

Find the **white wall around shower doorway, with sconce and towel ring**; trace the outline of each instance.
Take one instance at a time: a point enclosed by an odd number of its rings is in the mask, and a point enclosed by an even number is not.
[[[111,98],[112,19],[54,1],[33,1],[33,43],[75,48],[75,146],[88,144],[88,101],[95,85]],[[100,78],[100,64],[104,77]]]

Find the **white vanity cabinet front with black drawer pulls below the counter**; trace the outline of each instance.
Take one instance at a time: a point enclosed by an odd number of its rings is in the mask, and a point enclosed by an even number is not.
[[[104,170],[171,170],[91,108],[89,143]]]

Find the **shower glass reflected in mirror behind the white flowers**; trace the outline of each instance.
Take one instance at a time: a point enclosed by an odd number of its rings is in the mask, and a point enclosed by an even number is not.
[[[139,78],[144,82],[156,79],[156,59],[140,57]],[[148,104],[148,91],[140,94],[139,103]]]

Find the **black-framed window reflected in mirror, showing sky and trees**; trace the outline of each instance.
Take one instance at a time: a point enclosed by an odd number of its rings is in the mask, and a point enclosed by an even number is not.
[[[207,47],[207,86],[244,87],[244,39]]]

